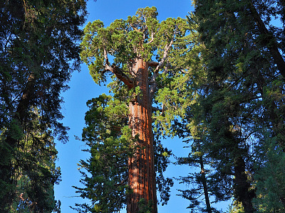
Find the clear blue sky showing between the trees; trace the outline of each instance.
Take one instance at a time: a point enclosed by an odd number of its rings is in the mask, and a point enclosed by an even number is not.
[[[88,21],[95,21],[100,19],[105,26],[110,25],[115,19],[126,19],[128,16],[135,15],[135,12],[139,8],[146,6],[155,6],[159,13],[158,19],[160,21],[165,20],[167,17],[177,18],[178,16],[185,18],[188,12],[192,11],[190,0],[144,0],[144,1],[130,1],[130,0],[89,0],[88,1]],[[87,23],[86,22],[86,23]],[[88,153],[84,153],[84,143],[76,141],[74,136],[81,137],[82,129],[85,126],[84,116],[88,108],[86,102],[88,99],[98,97],[103,92],[107,93],[108,89],[105,87],[99,87],[89,75],[88,67],[82,65],[81,72],[74,72],[71,82],[69,83],[71,89],[63,93],[65,104],[63,104],[63,124],[70,127],[69,142],[62,144],[57,143],[56,148],[58,150],[58,162],[57,166],[61,167],[62,181],[55,187],[56,199],[61,200],[61,212],[75,212],[69,206],[73,206],[76,202],[82,202],[80,197],[76,197],[75,189],[73,185],[81,186],[79,180],[81,174],[78,171],[77,163],[81,159],[88,158]],[[177,138],[168,139],[165,142],[167,148],[172,149],[175,155],[186,156],[189,151],[182,148],[185,144]],[[190,168],[187,166],[174,166],[170,165],[167,169],[166,175],[168,177],[178,177],[180,175],[187,175],[190,172]],[[178,185],[175,182],[172,187],[172,196],[170,202],[166,206],[158,207],[159,213],[186,213],[190,212],[186,209],[189,202],[182,197],[177,197],[177,188],[184,187]],[[227,204],[224,206],[219,205],[224,210],[227,209]]]

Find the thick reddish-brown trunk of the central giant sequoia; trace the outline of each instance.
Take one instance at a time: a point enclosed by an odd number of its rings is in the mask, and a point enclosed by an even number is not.
[[[136,86],[140,87],[140,94],[137,94],[134,102],[130,102],[129,125],[133,130],[133,136],[138,137],[138,141],[135,143],[133,156],[129,158],[128,183],[133,192],[128,197],[127,212],[144,212],[144,206],[152,204],[152,213],[156,213],[155,163],[147,62],[138,58],[133,65],[133,72],[136,76]]]

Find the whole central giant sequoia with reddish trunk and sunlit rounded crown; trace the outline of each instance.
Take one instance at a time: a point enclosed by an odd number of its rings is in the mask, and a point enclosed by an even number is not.
[[[113,99],[105,95],[93,99],[86,114],[83,140],[92,157],[81,165],[93,177],[86,176],[86,188],[79,191],[93,200],[91,207],[81,205],[88,211],[114,212],[127,203],[128,212],[157,212],[155,170],[165,170],[160,160],[169,151],[154,141],[152,112],[161,118],[168,106],[160,103],[167,99],[173,98],[176,107],[181,104],[175,94],[185,75],[187,27],[183,18],[159,23],[155,7],[147,7],[106,28],[98,20],[84,29],[81,58],[97,84],[112,76],[109,87],[114,94]],[[163,116],[164,124],[175,113]],[[163,182],[158,184],[160,190],[170,182],[161,175],[157,179]],[[162,192],[162,197],[167,195]]]

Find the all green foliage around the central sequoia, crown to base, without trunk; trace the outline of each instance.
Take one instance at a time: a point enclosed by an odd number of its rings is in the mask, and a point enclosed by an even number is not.
[[[107,74],[111,73],[113,81],[108,87],[113,97],[102,94],[88,102],[90,110],[86,113],[83,141],[90,146],[91,158],[81,161],[81,166],[90,177],[83,172],[82,181],[86,187],[76,188],[93,204],[77,204],[79,212],[115,212],[125,206],[125,196],[130,193],[125,179],[128,178],[128,157],[138,148],[134,143],[138,136],[132,136],[128,127],[128,106],[133,102],[142,104],[142,87],[146,87],[141,85],[141,77],[136,75],[134,68],[140,59],[150,65],[150,103],[147,106],[162,107],[152,116],[156,130],[153,147],[156,184],[162,205],[170,199],[173,182],[162,173],[170,163],[172,153],[162,146],[160,138],[162,133],[175,134],[175,129],[169,127],[174,119],[185,114],[189,105],[185,101],[188,93],[184,92],[189,89],[188,73],[192,73],[185,70],[185,66],[189,67],[187,60],[195,55],[192,50],[196,35],[187,35],[189,26],[184,18],[167,18],[159,22],[157,15],[155,7],[146,7],[138,9],[135,16],[128,16],[127,20],[115,20],[107,27],[97,20],[88,23],[84,29],[81,59],[88,65],[97,84],[105,82]],[[192,55],[188,54],[190,52]],[[114,58],[112,65],[110,56]],[[192,60],[193,67],[195,62]],[[127,87],[129,85],[122,79],[132,82],[133,87]],[[118,185],[121,182],[124,187]],[[108,187],[101,187],[102,183]],[[147,212],[147,208],[142,212]]]

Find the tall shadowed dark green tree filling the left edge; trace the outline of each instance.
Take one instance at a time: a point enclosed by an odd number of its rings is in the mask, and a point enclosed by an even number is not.
[[[85,15],[86,1],[0,3],[1,212],[55,207],[53,136],[66,141],[60,94],[78,69]]]

